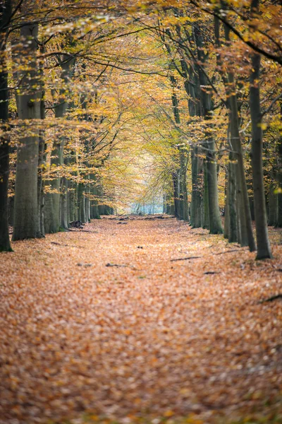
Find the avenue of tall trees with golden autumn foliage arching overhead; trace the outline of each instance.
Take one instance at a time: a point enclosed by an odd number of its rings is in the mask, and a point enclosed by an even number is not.
[[[0,250],[9,225],[44,237],[161,197],[271,258],[279,1],[1,0],[0,14]]]

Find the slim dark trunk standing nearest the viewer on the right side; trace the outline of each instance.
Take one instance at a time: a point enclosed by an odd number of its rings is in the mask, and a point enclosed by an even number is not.
[[[252,120],[252,184],[254,187],[255,224],[257,230],[257,259],[271,258],[267,229],[264,195],[264,173],[262,168],[262,114],[259,96],[260,55],[252,54],[250,75],[250,112]]]

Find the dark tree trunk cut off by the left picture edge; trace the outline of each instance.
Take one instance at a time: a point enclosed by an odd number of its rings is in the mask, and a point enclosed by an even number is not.
[[[11,18],[11,0],[0,4],[0,27],[4,28]],[[0,33],[0,252],[11,252],[8,234],[8,174],[9,174],[9,135],[8,135],[8,69],[6,64],[6,32]]]

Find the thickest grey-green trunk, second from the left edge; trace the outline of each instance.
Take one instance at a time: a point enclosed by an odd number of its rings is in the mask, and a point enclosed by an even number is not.
[[[37,74],[37,35],[37,24],[24,25],[20,30],[25,45],[25,50],[21,52],[24,55],[25,66],[18,72],[19,119],[40,119],[41,90]],[[39,231],[37,202],[39,131],[35,128],[32,132],[31,136],[21,137],[18,146],[13,240],[42,237]]]

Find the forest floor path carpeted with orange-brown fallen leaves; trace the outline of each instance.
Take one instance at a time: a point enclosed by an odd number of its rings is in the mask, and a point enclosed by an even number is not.
[[[266,261],[174,218],[14,242],[0,255],[0,423],[282,423],[270,233]]]

